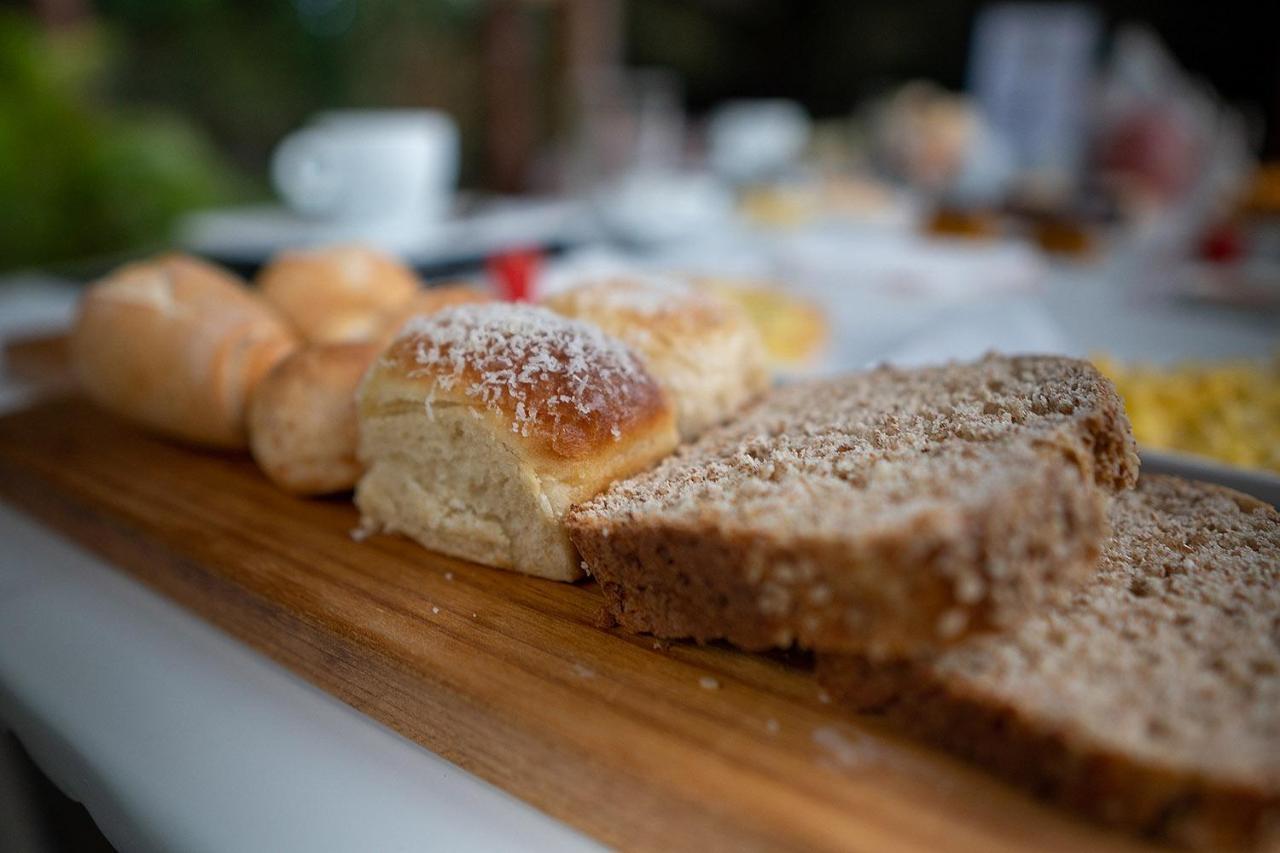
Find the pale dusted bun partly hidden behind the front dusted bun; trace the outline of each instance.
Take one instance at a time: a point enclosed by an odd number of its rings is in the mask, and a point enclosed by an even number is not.
[[[682,441],[726,420],[769,384],[764,343],[746,313],[682,280],[590,280],[543,304],[635,350],[671,394]]]

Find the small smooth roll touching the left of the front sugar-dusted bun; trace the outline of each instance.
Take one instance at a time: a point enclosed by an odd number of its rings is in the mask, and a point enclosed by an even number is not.
[[[250,450],[276,485],[328,494],[356,484],[356,387],[380,350],[376,343],[312,345],[259,383],[248,409]]]

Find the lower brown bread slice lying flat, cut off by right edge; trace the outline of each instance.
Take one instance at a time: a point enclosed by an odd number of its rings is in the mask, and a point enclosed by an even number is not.
[[[932,661],[818,675],[1034,792],[1192,847],[1280,843],[1280,515],[1144,476],[1068,603]]]

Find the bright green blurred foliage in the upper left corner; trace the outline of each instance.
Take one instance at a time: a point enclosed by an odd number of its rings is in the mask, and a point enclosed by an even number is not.
[[[246,192],[189,122],[104,104],[115,46],[0,14],[0,268],[160,242],[182,211]]]

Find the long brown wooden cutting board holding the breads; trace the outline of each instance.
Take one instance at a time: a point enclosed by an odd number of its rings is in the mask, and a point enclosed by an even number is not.
[[[590,585],[351,538],[346,500],[78,400],[0,419],[0,496],[428,749],[613,845],[1108,850],[824,702],[804,660],[596,626]]]

